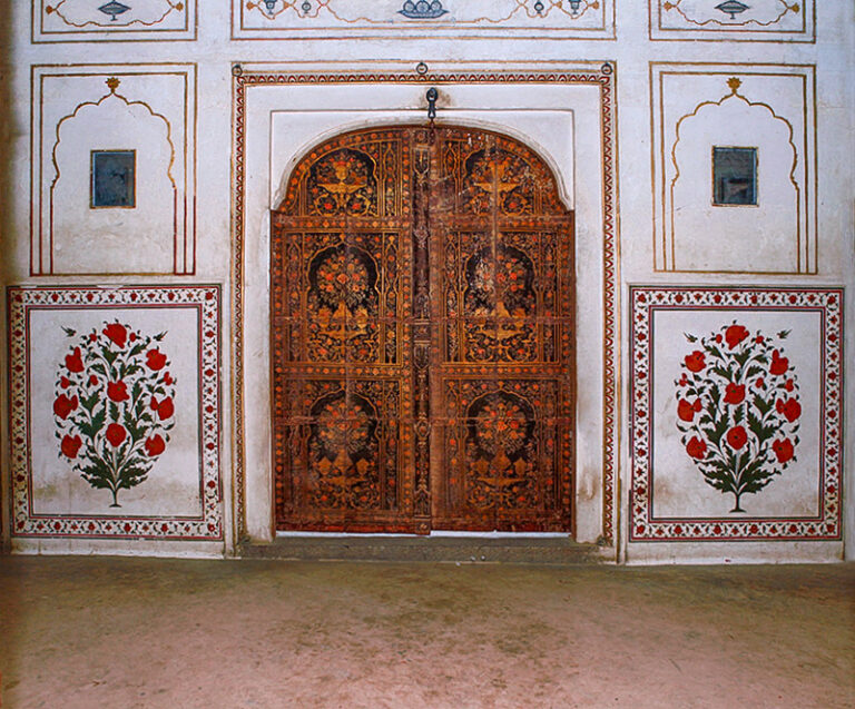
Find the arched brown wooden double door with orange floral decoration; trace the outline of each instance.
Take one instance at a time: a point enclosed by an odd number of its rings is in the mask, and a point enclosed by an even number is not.
[[[573,215],[535,152],[341,135],[271,256],[277,529],[572,531]]]

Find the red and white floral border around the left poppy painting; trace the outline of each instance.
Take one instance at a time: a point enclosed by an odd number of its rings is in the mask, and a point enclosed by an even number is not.
[[[223,491],[219,471],[219,317],[220,287],[10,287],[9,392],[11,433],[12,536],[88,539],[158,539],[218,541],[223,539]],[[70,308],[193,307],[199,312],[199,416],[202,516],[120,516],[35,514],[31,500],[28,311]]]

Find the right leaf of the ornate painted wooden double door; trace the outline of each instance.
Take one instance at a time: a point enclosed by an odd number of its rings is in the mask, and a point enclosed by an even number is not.
[[[518,141],[440,131],[434,529],[569,531],[573,223]]]

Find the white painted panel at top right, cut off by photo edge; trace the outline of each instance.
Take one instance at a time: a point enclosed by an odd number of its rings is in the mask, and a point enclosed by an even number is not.
[[[649,0],[650,37],[813,42],[815,0]]]

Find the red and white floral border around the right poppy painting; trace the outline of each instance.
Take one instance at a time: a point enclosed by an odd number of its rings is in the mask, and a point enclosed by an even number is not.
[[[630,287],[629,541],[834,541],[842,538],[843,288]],[[815,518],[660,519],[651,490],[653,436],[652,316],[662,311],[815,312],[822,316],[819,514]]]

